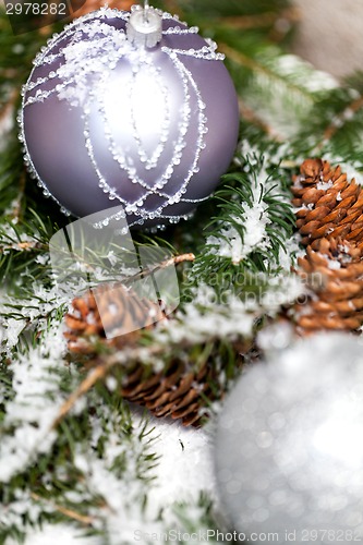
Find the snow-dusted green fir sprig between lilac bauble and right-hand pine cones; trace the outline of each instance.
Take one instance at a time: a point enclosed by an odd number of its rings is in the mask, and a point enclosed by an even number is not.
[[[279,267],[279,254],[286,247],[294,226],[289,194],[281,184],[282,172],[268,172],[263,158],[246,158],[240,172],[227,174],[216,192],[220,215],[213,218],[203,254],[197,256],[193,274],[208,281],[208,275],[231,270],[231,277],[251,269],[266,271]],[[232,184],[230,184],[232,182]],[[249,238],[249,239],[247,239]],[[251,239],[251,240],[250,240]]]

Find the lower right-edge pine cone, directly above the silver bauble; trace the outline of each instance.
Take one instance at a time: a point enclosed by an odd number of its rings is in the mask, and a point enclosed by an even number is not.
[[[363,324],[363,249],[341,239],[319,239],[299,258],[297,271],[311,289],[293,306],[298,332],[358,330]]]

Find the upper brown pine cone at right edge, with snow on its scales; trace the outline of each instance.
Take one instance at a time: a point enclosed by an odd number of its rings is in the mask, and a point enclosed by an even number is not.
[[[318,239],[334,237],[363,247],[363,192],[361,185],[347,180],[340,167],[328,161],[306,159],[295,177],[291,191],[298,207],[297,227],[302,242],[317,250]]]

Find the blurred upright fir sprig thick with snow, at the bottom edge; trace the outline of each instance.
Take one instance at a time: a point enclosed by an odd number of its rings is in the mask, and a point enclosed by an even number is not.
[[[89,514],[95,519],[93,525],[106,531],[111,545],[131,543],[136,531],[162,531],[162,522],[154,522],[156,514],[152,516],[143,508],[143,497],[150,486],[147,476],[152,475],[144,474],[144,479],[140,477],[138,459],[153,451],[150,434],[145,440],[140,439],[145,421],[136,417],[133,420],[133,436],[126,438],[118,429],[120,419],[120,414],[105,407],[102,420],[107,427],[106,434],[105,429],[99,429],[99,420],[92,419],[95,445],[100,435],[107,437],[104,457],[99,458],[94,450],[84,450],[82,445],[77,445],[74,459],[75,467],[84,475],[83,482],[88,494],[105,499],[105,507],[92,509]],[[152,432],[150,426],[147,432]],[[124,460],[125,465],[121,479],[113,469],[120,459]]]

